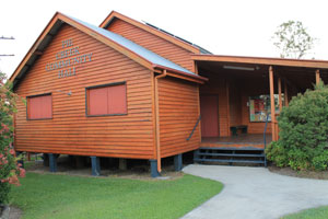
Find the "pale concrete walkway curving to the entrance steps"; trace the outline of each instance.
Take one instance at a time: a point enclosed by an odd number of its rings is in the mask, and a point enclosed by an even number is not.
[[[224,184],[219,195],[183,219],[276,219],[328,205],[328,181],[279,175],[265,168],[192,164],[183,171]]]

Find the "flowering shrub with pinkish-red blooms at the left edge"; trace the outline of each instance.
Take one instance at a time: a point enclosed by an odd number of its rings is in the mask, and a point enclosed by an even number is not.
[[[17,96],[11,92],[10,82],[0,72],[0,204],[9,201],[11,184],[19,185],[17,176],[25,171],[16,163],[13,149],[13,115]]]

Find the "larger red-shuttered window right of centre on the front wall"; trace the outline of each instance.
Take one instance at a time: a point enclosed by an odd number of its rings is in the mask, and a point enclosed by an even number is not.
[[[126,83],[113,83],[108,85],[87,88],[86,99],[86,115],[99,116],[127,114]]]

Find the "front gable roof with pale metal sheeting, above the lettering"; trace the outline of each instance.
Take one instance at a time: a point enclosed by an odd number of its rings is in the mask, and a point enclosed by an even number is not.
[[[134,44],[133,42],[118,34],[94,26],[78,19],[67,16],[62,13],[56,12],[48,25],[42,32],[42,34],[31,47],[24,59],[21,61],[16,70],[11,76],[10,80],[14,83],[14,85],[24,76],[24,73],[27,72],[28,68],[34,64],[37,57],[43,54],[47,45],[51,42],[54,35],[57,34],[57,32],[63,23],[67,23],[82,31],[89,36],[128,56],[132,60],[137,61],[138,64],[144,66],[150,70],[165,69],[171,71],[172,73],[183,74],[183,77],[180,78],[187,80],[188,78],[194,78],[192,81],[196,80],[196,82],[202,82],[207,80],[206,78],[197,76],[196,73],[143,48],[140,45]]]

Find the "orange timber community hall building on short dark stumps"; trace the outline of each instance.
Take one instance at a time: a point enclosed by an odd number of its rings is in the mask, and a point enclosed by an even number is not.
[[[48,153],[51,171],[54,154],[71,154],[91,157],[93,174],[99,157],[147,159],[157,176],[161,159],[174,155],[180,170],[188,151],[197,161],[209,148],[262,150],[263,136],[278,138],[279,108],[326,82],[327,69],[327,61],[215,56],[117,12],[99,26],[56,13],[10,79],[26,99],[14,147]]]

